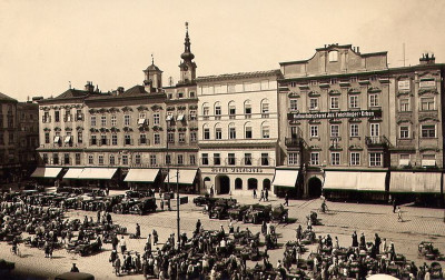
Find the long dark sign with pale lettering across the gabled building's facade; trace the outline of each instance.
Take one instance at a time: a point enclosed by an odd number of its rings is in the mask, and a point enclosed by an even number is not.
[[[382,118],[382,110],[288,113],[288,120]]]

